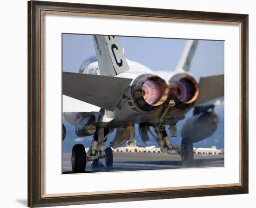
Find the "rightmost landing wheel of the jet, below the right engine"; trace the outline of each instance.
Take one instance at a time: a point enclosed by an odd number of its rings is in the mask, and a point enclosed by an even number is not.
[[[182,148],[182,162],[183,163],[193,163],[194,160],[194,149],[193,149],[193,143],[191,142],[191,139],[185,138],[182,139],[181,143]]]

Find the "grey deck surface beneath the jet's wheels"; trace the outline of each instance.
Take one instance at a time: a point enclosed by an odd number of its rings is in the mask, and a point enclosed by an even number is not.
[[[106,167],[105,161],[102,159],[100,160],[99,168],[92,168],[91,163],[87,163],[85,172],[224,167],[223,155],[194,155],[194,163],[190,165],[182,164],[180,156],[163,153],[115,152],[113,153],[113,158],[113,167]],[[73,173],[71,153],[62,154],[62,173]]]

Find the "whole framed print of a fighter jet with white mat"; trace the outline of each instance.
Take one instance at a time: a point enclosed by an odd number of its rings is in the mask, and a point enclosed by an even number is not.
[[[29,207],[244,193],[248,15],[28,2]]]

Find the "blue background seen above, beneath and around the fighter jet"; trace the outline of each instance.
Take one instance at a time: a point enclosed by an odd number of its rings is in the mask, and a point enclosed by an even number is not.
[[[141,38],[141,37],[118,37],[121,47],[124,47],[126,58],[139,62],[153,71],[174,71],[181,58],[185,39],[160,39],[160,38]],[[95,55],[93,39],[91,35],[63,34],[62,35],[62,70],[78,72],[81,63],[89,56]],[[212,40],[200,40],[193,58],[190,72],[198,81],[200,77],[223,74],[224,73],[224,42]],[[223,98],[212,101],[216,103],[216,113],[220,118],[220,123],[215,134],[209,138],[195,143],[195,147],[224,148],[224,103]],[[186,117],[192,116],[191,111]],[[91,137],[78,138],[74,133],[74,126],[65,122],[67,137],[63,142],[63,152],[70,152],[75,143],[83,143],[89,146]],[[178,136],[172,138],[173,144],[181,143],[179,131],[186,118],[177,123]],[[136,127],[137,128],[137,127]],[[109,145],[114,138],[115,132],[108,137]],[[142,143],[138,131],[135,139],[139,145]],[[155,140],[151,137],[148,145],[155,145]]]

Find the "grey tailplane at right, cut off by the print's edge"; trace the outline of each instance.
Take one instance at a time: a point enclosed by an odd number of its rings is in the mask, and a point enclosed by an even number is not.
[[[200,78],[198,85],[196,105],[224,95],[224,74]]]

